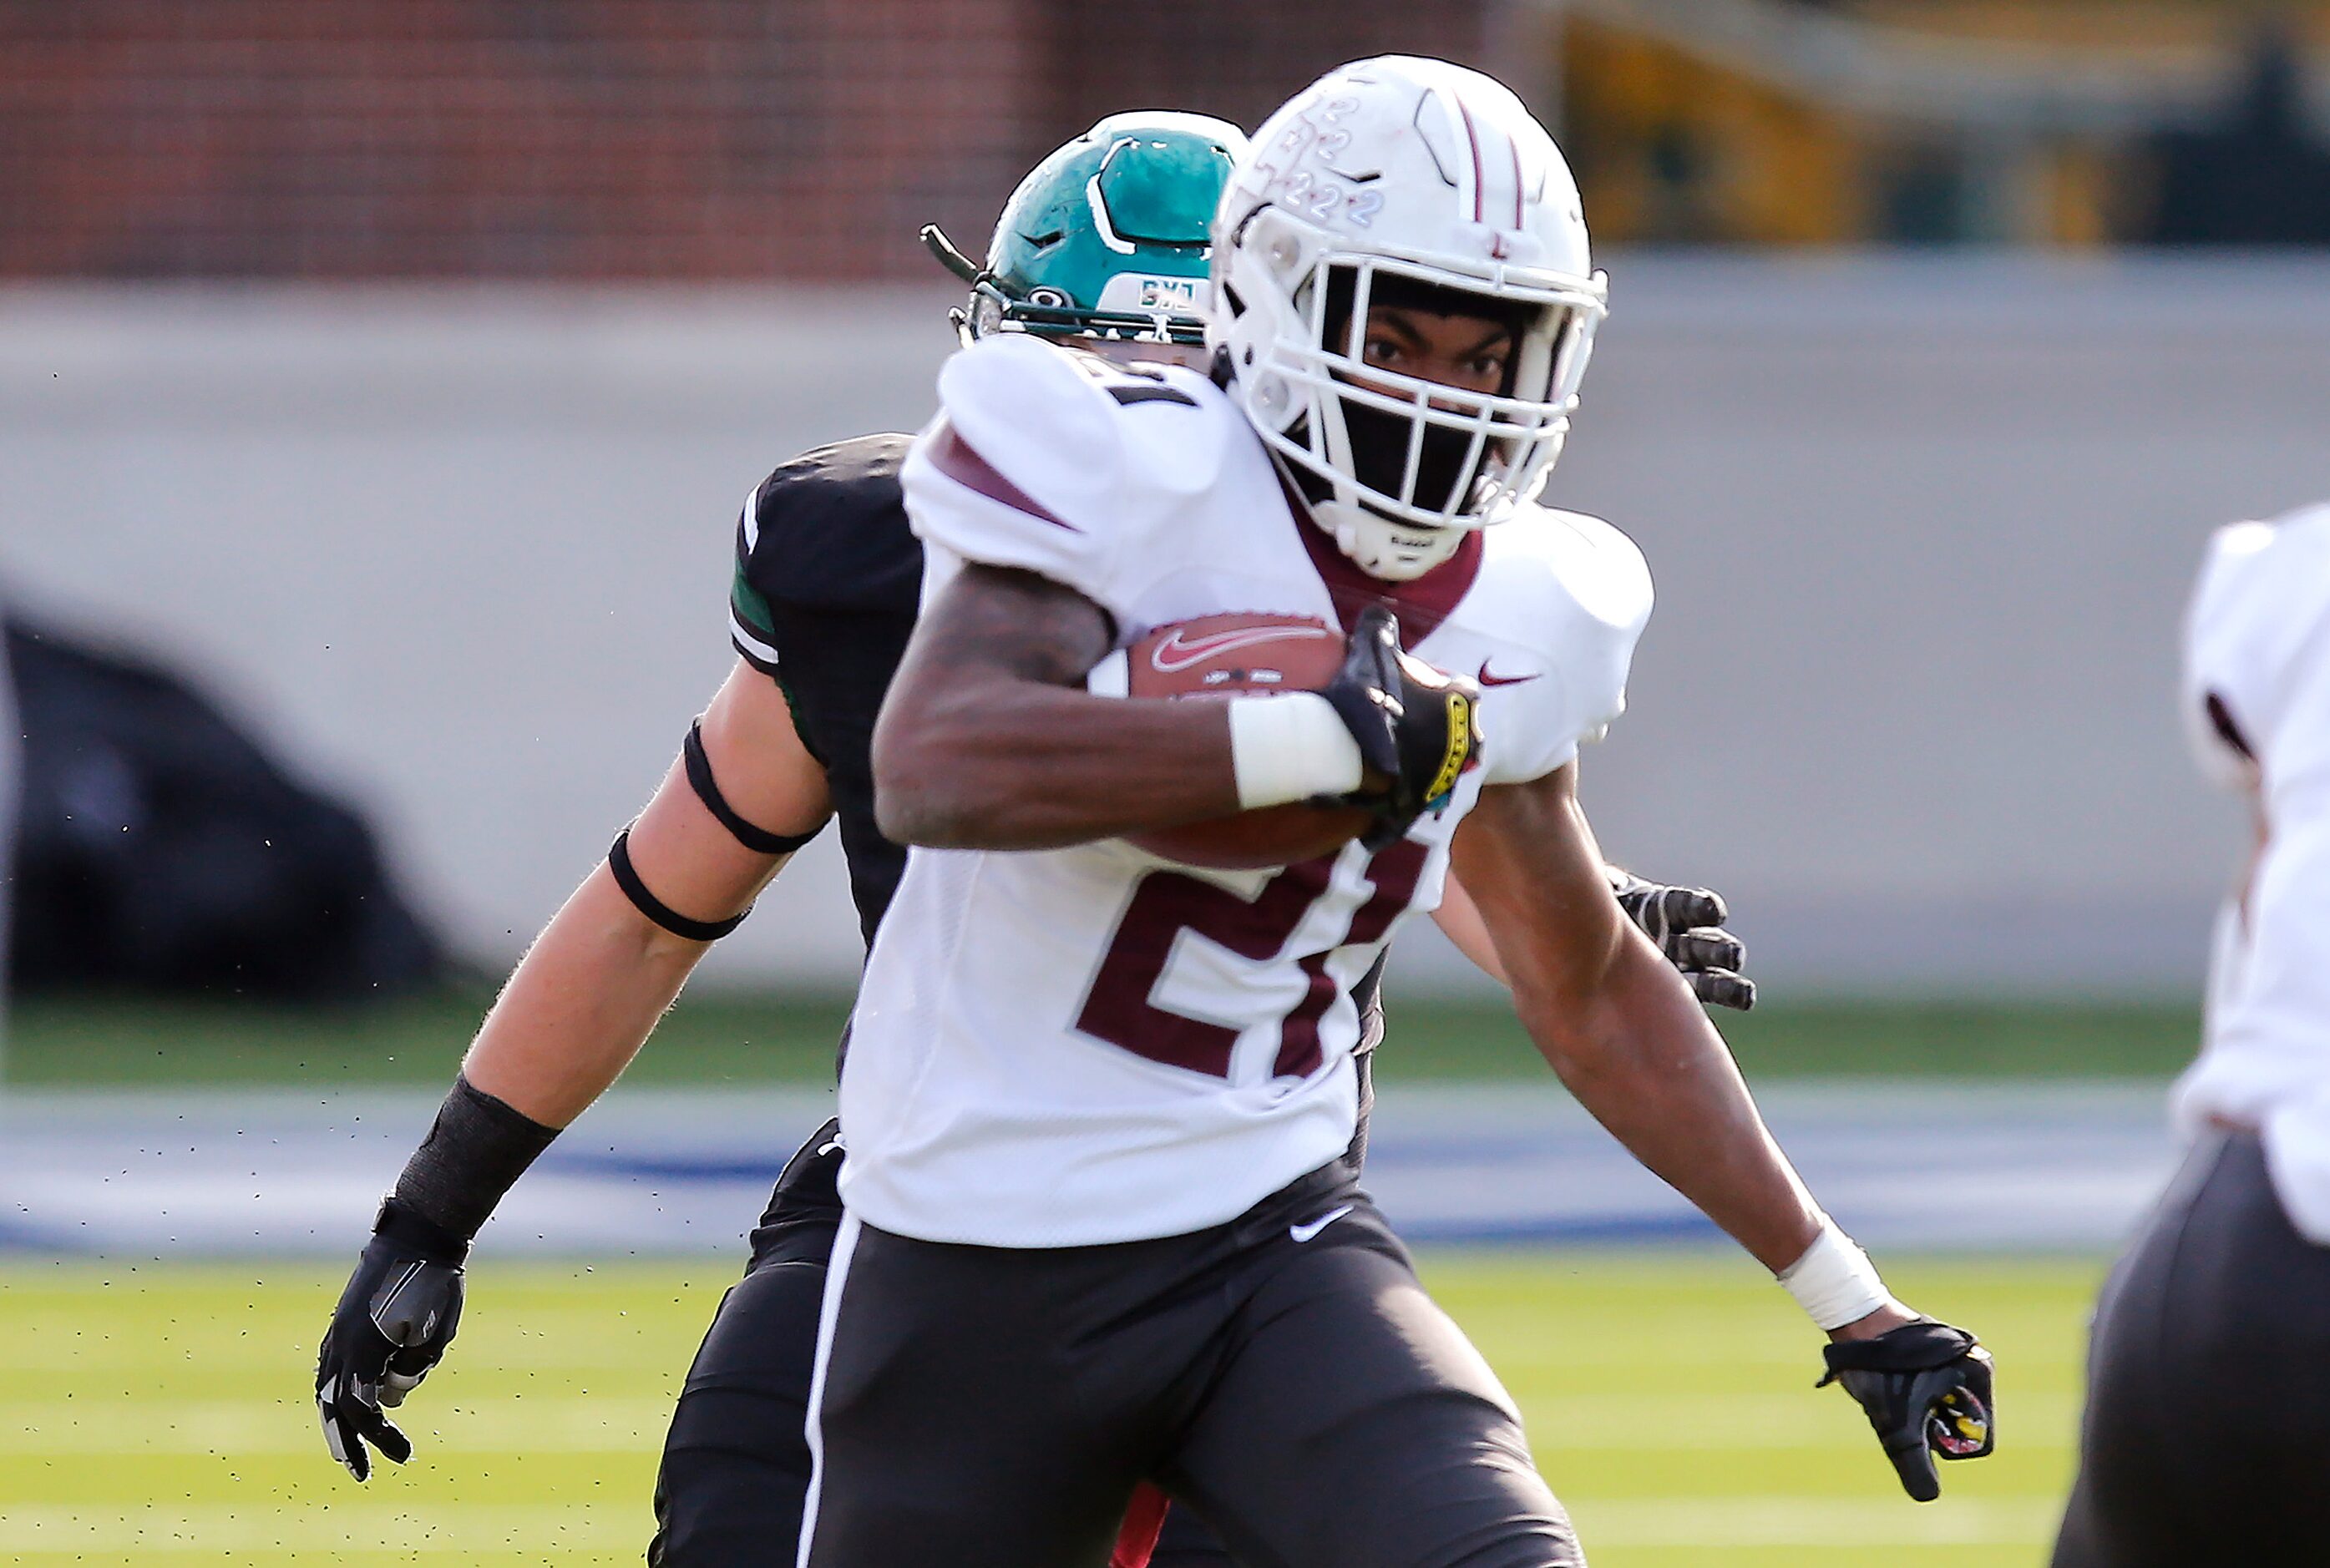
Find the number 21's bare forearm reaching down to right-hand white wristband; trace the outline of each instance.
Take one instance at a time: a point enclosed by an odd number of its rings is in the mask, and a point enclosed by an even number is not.
[[[1722,1034],[1638,937],[1584,1000],[1514,983],[1538,1051],[1577,1102],[1764,1267],[1780,1272],[1820,1230],[1820,1209],[1764,1128]]]

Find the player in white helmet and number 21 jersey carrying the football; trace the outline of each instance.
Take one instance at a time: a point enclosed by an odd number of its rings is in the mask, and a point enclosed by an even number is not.
[[[1820,1212],[1577,808],[1650,610],[1624,536],[1535,503],[1587,266],[1508,91],[1363,61],[1233,172],[1214,375],[1028,338],[941,370],[902,471],[927,587],[874,771],[916,848],[841,1079],[806,1568],[1097,1561],[1139,1482],[1254,1563],[1582,1561],[1344,1160],[1351,988],[1452,869],[1545,1058],[1831,1335],[1904,1486],[1987,1452],[1987,1354]],[[1090,690],[1226,610],[1340,624],[1340,671]],[[1128,839],[1321,797],[1372,827],[1279,869]]]

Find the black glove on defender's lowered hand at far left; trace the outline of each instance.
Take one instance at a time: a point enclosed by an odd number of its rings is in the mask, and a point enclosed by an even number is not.
[[[461,1326],[461,1260],[468,1242],[389,1198],[373,1239],[340,1291],[315,1358],[315,1407],[331,1456],[359,1482],[375,1449],[405,1463],[412,1442],[380,1407],[396,1407],[452,1344]]]

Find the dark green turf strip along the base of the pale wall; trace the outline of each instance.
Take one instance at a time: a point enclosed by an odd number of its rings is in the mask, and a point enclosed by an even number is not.
[[[452,1079],[485,993],[368,1009],[186,1002],[28,1002],[9,1020],[9,1083],[408,1083]],[[846,1002],[704,993],[664,1018],[638,1083],[820,1083]],[[2011,1002],[1768,1004],[1717,1023],[1752,1079],[1773,1076],[2167,1076],[2193,1060],[2188,1007]],[[1545,1072],[1512,1011],[1393,1000],[1386,1079]]]

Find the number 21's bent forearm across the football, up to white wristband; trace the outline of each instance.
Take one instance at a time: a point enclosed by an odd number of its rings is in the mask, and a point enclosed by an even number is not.
[[[874,790],[883,834],[937,848],[1060,848],[1237,811],[1221,704],[1009,678],[885,706]]]

